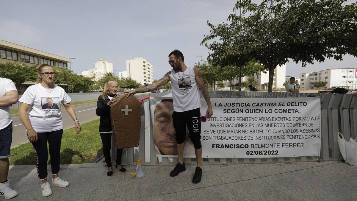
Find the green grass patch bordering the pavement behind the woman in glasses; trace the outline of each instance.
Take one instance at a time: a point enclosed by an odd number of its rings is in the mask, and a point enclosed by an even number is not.
[[[74,128],[63,132],[61,143],[61,164],[88,163],[102,150],[99,135],[99,118],[81,125],[81,132]],[[47,145],[48,147],[48,145]],[[11,149],[10,165],[36,165],[36,156],[30,142]],[[50,156],[47,164],[50,164]]]

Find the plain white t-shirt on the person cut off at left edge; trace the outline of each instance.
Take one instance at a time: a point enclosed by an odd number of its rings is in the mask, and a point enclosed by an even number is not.
[[[15,84],[10,79],[0,78],[0,97],[12,90],[17,91]],[[0,107],[0,130],[9,126],[11,122],[10,107]]]

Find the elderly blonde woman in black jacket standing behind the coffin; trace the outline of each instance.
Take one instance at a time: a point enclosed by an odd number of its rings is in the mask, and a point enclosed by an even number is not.
[[[118,83],[115,80],[109,80],[107,83],[105,83],[103,93],[97,100],[97,109],[95,111],[97,116],[100,116],[99,134],[102,138],[104,158],[108,167],[108,177],[113,175],[113,167],[110,158],[111,136],[113,133],[110,119],[110,105],[117,101],[114,98],[117,91]],[[121,167],[120,165],[122,154],[123,149],[116,149],[115,168],[117,168],[120,172],[126,172],[125,168]]]

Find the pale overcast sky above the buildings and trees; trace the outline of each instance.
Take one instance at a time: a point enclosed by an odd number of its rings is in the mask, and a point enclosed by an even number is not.
[[[6,2],[6,3],[5,3]],[[72,69],[81,73],[94,67],[98,58],[126,70],[126,60],[143,57],[153,66],[154,79],[171,70],[168,54],[179,49],[185,64],[193,66],[208,49],[201,46],[209,34],[207,20],[227,22],[235,0],[16,0],[2,3],[0,39],[73,60]],[[252,0],[260,3],[261,0]],[[239,11],[237,11],[239,14]],[[286,64],[286,74],[327,68],[357,68],[357,58],[343,61]]]

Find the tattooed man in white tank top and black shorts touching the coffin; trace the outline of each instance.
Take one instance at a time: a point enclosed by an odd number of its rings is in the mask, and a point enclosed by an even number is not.
[[[190,139],[195,146],[195,154],[197,159],[197,167],[195,174],[193,175],[192,182],[199,183],[202,178],[202,145],[201,145],[201,121],[200,121],[200,93],[198,87],[202,91],[203,98],[207,103],[208,118],[213,115],[212,105],[210,101],[210,95],[206,85],[203,83],[201,73],[196,67],[187,67],[183,63],[183,54],[179,50],[174,50],[169,54],[169,64],[172,69],[167,72],[163,78],[157,82],[147,85],[141,89],[135,89],[126,91],[130,94],[150,92],[166,83],[171,81],[172,85],[172,99],[174,102],[174,113],[172,119],[174,122],[174,128],[176,131],[176,143],[178,152],[178,163],[174,170],[170,172],[170,176],[175,177],[180,172],[186,170],[185,163],[183,162],[183,148],[186,136],[186,124],[188,131],[190,131]],[[190,87],[180,88],[182,80],[190,80]],[[193,129],[195,128],[195,129]],[[198,128],[198,130],[197,130]]]

